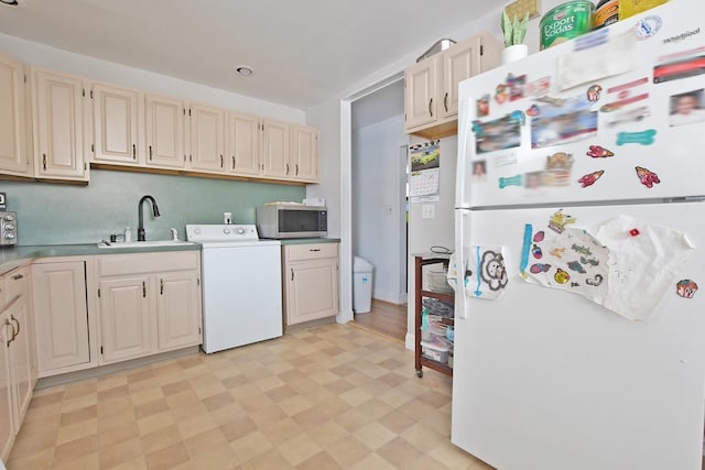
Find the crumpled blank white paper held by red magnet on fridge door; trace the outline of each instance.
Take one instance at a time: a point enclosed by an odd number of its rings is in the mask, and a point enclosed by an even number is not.
[[[652,316],[695,247],[685,233],[628,216],[603,225],[597,238],[609,247],[605,307],[632,320]]]

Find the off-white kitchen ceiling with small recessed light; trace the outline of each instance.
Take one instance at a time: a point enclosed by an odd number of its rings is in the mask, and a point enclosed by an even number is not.
[[[487,0],[20,2],[0,4],[0,32],[304,110],[391,62],[423,54],[498,7]],[[232,67],[242,64],[254,74],[237,76]]]

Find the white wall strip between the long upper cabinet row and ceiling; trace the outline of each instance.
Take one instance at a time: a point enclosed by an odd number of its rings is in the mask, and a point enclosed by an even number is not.
[[[295,123],[304,123],[306,119],[305,112],[300,109],[128,67],[122,64],[74,54],[2,33],[0,33],[0,52],[36,67],[193,100],[204,105]]]

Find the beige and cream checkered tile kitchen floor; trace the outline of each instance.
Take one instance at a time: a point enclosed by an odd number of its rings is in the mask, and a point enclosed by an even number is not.
[[[490,469],[449,441],[451,386],[326,325],[37,391],[8,469]]]

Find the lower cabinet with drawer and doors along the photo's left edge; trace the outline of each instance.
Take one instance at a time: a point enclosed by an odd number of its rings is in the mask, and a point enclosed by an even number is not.
[[[0,458],[7,459],[32,400],[36,367],[30,270],[21,267],[0,280]]]

